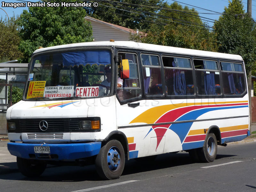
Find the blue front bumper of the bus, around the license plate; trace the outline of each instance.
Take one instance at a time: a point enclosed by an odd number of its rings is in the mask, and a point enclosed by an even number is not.
[[[49,146],[50,154],[35,153],[35,146]],[[44,160],[73,160],[97,155],[100,152],[101,142],[90,143],[7,143],[9,152],[25,159]]]

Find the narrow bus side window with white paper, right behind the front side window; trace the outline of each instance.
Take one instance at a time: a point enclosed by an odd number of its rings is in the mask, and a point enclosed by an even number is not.
[[[163,95],[163,84],[159,58],[156,55],[141,54],[145,95]]]

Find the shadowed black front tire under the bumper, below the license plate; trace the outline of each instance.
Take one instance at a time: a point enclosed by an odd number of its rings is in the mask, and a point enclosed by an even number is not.
[[[30,160],[17,157],[17,165],[24,176],[38,177],[44,172],[47,164],[40,160]]]

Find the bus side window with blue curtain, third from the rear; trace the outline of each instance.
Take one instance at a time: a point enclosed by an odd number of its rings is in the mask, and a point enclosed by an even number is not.
[[[187,58],[162,57],[166,94],[194,95],[193,70]],[[179,69],[183,68],[183,69]],[[187,69],[186,69],[187,68]]]

